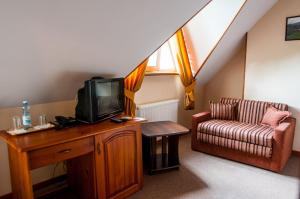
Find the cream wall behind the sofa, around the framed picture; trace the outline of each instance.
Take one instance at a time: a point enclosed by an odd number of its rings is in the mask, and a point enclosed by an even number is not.
[[[286,17],[299,0],[280,0],[249,32],[245,98],[283,102],[297,119],[293,149],[300,151],[300,41],[285,41]]]

